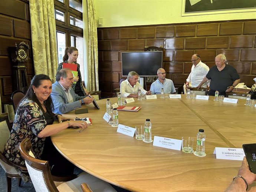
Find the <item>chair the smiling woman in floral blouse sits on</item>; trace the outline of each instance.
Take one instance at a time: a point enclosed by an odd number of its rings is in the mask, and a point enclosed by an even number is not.
[[[6,184],[7,184],[7,192],[11,192],[12,189],[12,178],[18,179],[18,185],[21,185],[21,177],[14,168],[12,162],[10,162],[6,157],[3,155],[4,145],[6,144],[7,140],[10,136],[10,123],[8,119],[8,114],[1,114],[0,115],[0,165],[4,169],[6,173]]]

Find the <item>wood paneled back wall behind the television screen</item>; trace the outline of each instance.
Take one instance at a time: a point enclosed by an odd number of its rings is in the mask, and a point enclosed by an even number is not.
[[[241,82],[252,86],[256,77],[256,20],[184,23],[156,26],[98,28],[99,88],[102,96],[114,96],[119,87],[121,52],[144,51],[163,46],[166,77],[182,86],[191,70],[191,56],[201,56],[209,67],[224,53]]]

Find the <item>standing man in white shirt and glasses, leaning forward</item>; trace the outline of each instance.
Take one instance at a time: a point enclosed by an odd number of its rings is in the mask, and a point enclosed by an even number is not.
[[[192,87],[197,87],[199,83],[204,79],[206,74],[209,72],[209,67],[201,62],[200,55],[193,54],[191,57],[191,62],[193,63],[191,67],[191,72],[188,75],[186,87],[188,87],[191,82]],[[210,85],[210,80],[204,83],[201,87],[207,88]]]

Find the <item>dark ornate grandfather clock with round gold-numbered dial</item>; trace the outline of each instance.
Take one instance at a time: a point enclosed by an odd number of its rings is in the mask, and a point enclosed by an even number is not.
[[[15,47],[9,47],[10,59],[13,68],[13,90],[21,90],[26,93],[29,83],[27,80],[26,66],[24,62],[28,59],[29,46],[25,42],[19,45],[15,43]]]

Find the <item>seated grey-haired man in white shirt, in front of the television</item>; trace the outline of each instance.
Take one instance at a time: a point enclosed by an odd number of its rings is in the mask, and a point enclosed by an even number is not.
[[[138,73],[130,71],[128,77],[120,85],[120,92],[122,97],[138,97],[138,91],[141,90],[142,94],[151,95],[150,91],[146,91],[138,83]]]

